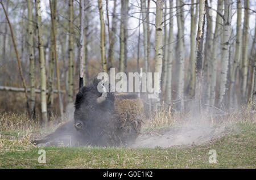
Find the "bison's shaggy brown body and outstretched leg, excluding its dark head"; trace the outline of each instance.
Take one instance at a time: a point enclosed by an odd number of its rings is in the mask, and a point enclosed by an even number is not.
[[[134,96],[134,95],[133,95]],[[126,99],[126,95],[115,95],[114,113],[112,122],[104,125],[101,130],[104,134],[105,142],[96,145],[116,146],[133,144],[141,132],[143,122],[143,102],[139,98]],[[135,96],[134,96],[135,97]],[[131,97],[128,97],[131,98]],[[71,145],[90,145],[93,144],[86,140],[73,126],[74,121],[62,123],[55,132],[47,135],[40,140],[33,140],[31,143],[40,144],[53,140],[60,140],[64,136],[71,136]],[[106,132],[107,131],[107,132]]]

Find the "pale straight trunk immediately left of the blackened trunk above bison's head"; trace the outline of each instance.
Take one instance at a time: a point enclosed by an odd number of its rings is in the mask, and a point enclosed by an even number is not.
[[[74,40],[73,40],[73,0],[69,0],[69,23],[68,23],[68,103],[73,103],[73,61],[74,61]]]

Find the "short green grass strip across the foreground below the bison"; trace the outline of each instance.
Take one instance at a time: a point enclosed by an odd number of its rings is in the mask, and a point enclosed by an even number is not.
[[[237,123],[236,127],[214,142],[191,147],[44,147],[46,164],[38,162],[41,148],[2,138],[0,168],[255,168],[256,125]],[[208,162],[210,149],[217,152],[216,164]]]

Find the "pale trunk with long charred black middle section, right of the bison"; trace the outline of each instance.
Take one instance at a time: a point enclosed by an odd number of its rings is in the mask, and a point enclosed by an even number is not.
[[[199,0],[199,21],[196,36],[196,93],[195,99],[199,101],[199,110],[201,110],[201,83],[203,75],[203,38],[205,24],[205,0]]]

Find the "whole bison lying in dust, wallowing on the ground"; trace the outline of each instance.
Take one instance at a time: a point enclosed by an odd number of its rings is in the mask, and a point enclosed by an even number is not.
[[[100,80],[80,88],[76,95],[74,120],[59,126],[55,132],[32,143],[47,143],[70,135],[72,145],[130,145],[141,132],[143,103],[135,94],[115,95],[107,92]]]

